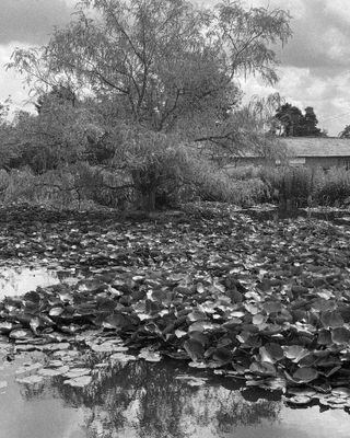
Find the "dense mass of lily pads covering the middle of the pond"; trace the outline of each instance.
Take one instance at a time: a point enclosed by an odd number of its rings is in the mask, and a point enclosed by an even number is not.
[[[25,231],[24,216],[22,229],[8,224],[8,241],[2,231],[0,254],[20,245],[26,261],[89,269],[75,285],[0,303],[0,333],[14,351],[61,350],[68,343],[131,360],[125,353],[131,348],[132,357],[185,359],[282,390],[288,403],[350,407],[347,226],[259,222],[222,206],[143,221],[68,217],[36,231]],[[107,341],[91,343],[88,330]],[[52,360],[38,374],[91,382],[84,368]]]

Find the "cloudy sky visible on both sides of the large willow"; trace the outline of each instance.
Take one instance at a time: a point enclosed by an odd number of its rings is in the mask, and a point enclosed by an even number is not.
[[[196,0],[212,5],[218,0]],[[267,87],[259,79],[242,83],[245,100],[279,92],[301,110],[312,106],[318,127],[337,136],[350,125],[350,2],[349,0],[243,0],[247,7],[289,10],[293,38],[278,49],[279,82]],[[28,90],[23,78],[7,71],[15,47],[48,42],[54,26],[67,24],[75,0],[1,0],[0,102],[11,95],[14,108],[26,108]]]

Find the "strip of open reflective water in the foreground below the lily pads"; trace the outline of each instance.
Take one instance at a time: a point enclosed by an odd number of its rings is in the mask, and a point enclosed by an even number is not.
[[[280,393],[240,388],[231,378],[191,387],[183,378],[188,369],[173,361],[105,364],[85,388],[65,385],[62,377],[20,384],[14,369],[0,368],[8,381],[0,390],[1,438],[349,437],[343,411],[287,407]]]

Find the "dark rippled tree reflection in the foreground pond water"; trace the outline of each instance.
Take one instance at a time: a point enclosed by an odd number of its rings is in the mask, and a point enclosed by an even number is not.
[[[93,382],[86,388],[71,388],[62,384],[62,378],[55,378],[42,394],[47,395],[49,389],[68,406],[86,407],[89,438],[186,438],[202,430],[220,437],[237,426],[278,418],[279,400],[249,402],[237,388],[224,388],[220,381],[190,387],[188,381],[176,379],[185,370],[166,361],[109,364],[95,368]],[[27,388],[23,395],[31,399],[39,393]]]

